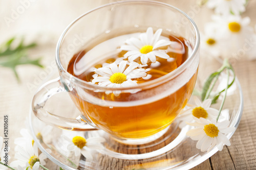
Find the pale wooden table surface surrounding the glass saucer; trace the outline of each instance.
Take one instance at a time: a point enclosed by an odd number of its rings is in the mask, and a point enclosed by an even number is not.
[[[161,1],[177,6],[185,12],[189,12],[196,4],[194,1]],[[12,9],[20,6],[19,2],[1,2],[1,18],[11,16]],[[14,159],[14,139],[20,137],[19,130],[26,128],[26,118],[30,109],[33,94],[39,84],[44,82],[50,74],[56,74],[57,69],[51,66],[54,63],[55,44],[60,33],[74,18],[83,12],[104,4],[106,1],[54,1],[51,5],[47,2],[36,1],[31,3],[28,9],[10,26],[1,25],[1,42],[17,34],[25,34],[28,39],[37,38],[39,46],[30,51],[32,57],[44,56],[42,59],[45,69],[26,65],[17,67],[22,80],[18,83],[13,72],[8,68],[0,67],[0,136],[3,136],[3,118],[9,116],[9,154]],[[186,3],[186,6],[183,5]],[[6,8],[4,8],[4,6]],[[255,25],[256,1],[249,1],[247,11],[243,16],[251,17],[251,25]],[[199,29],[203,29],[203,23],[210,20],[212,11],[203,7],[196,13],[193,19]],[[43,36],[40,36],[41,35]],[[48,37],[48,38],[46,38]],[[50,38],[49,38],[50,37]],[[256,54],[255,54],[256,55]],[[203,57],[203,56],[202,56]],[[233,64],[237,77],[241,83],[244,94],[244,111],[240,125],[230,139],[231,146],[224,147],[222,152],[194,167],[193,169],[256,169],[256,60],[248,61],[239,59]],[[58,169],[56,165],[48,161],[50,169]]]

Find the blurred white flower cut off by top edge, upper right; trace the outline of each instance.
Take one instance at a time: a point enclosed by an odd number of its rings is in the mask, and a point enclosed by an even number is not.
[[[208,0],[207,7],[215,9],[215,13],[228,15],[232,12],[240,15],[245,11],[246,0]]]

